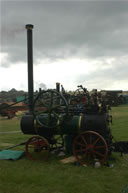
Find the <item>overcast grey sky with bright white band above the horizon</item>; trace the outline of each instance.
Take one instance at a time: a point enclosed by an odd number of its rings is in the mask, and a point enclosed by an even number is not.
[[[27,90],[34,25],[34,89],[128,90],[127,1],[0,1],[0,91]]]

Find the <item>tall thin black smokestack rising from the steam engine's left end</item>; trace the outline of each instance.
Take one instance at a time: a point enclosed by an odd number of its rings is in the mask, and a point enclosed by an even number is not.
[[[27,30],[27,54],[28,54],[28,105],[29,111],[33,112],[33,41],[32,41],[32,29],[33,25],[27,24],[25,26]]]

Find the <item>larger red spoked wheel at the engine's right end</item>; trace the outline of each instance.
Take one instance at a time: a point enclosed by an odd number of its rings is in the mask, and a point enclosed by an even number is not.
[[[95,159],[103,164],[108,154],[107,143],[97,132],[82,132],[74,139],[73,154],[81,165],[94,164]]]

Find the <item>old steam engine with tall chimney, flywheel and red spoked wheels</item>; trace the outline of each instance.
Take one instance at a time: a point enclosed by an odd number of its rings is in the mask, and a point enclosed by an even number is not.
[[[82,165],[98,159],[102,164],[112,151],[107,107],[90,97],[87,90],[68,96],[57,89],[40,91],[33,97],[32,25],[26,25],[28,41],[29,112],[21,119],[21,130],[32,136],[26,143],[31,159],[47,159],[49,151],[64,148],[70,138],[72,153]],[[81,97],[81,98],[80,98]]]

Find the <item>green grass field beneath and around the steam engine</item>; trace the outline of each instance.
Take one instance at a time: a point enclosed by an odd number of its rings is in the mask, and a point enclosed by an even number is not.
[[[128,106],[112,108],[112,134],[118,140],[128,141]],[[0,120],[0,132],[19,131],[20,118]],[[22,133],[0,134],[0,149],[26,141]],[[24,150],[24,146],[15,148]],[[128,155],[113,153],[114,167],[82,167],[62,164],[60,158],[50,155],[47,162],[0,160],[0,193],[121,193],[128,184]]]

